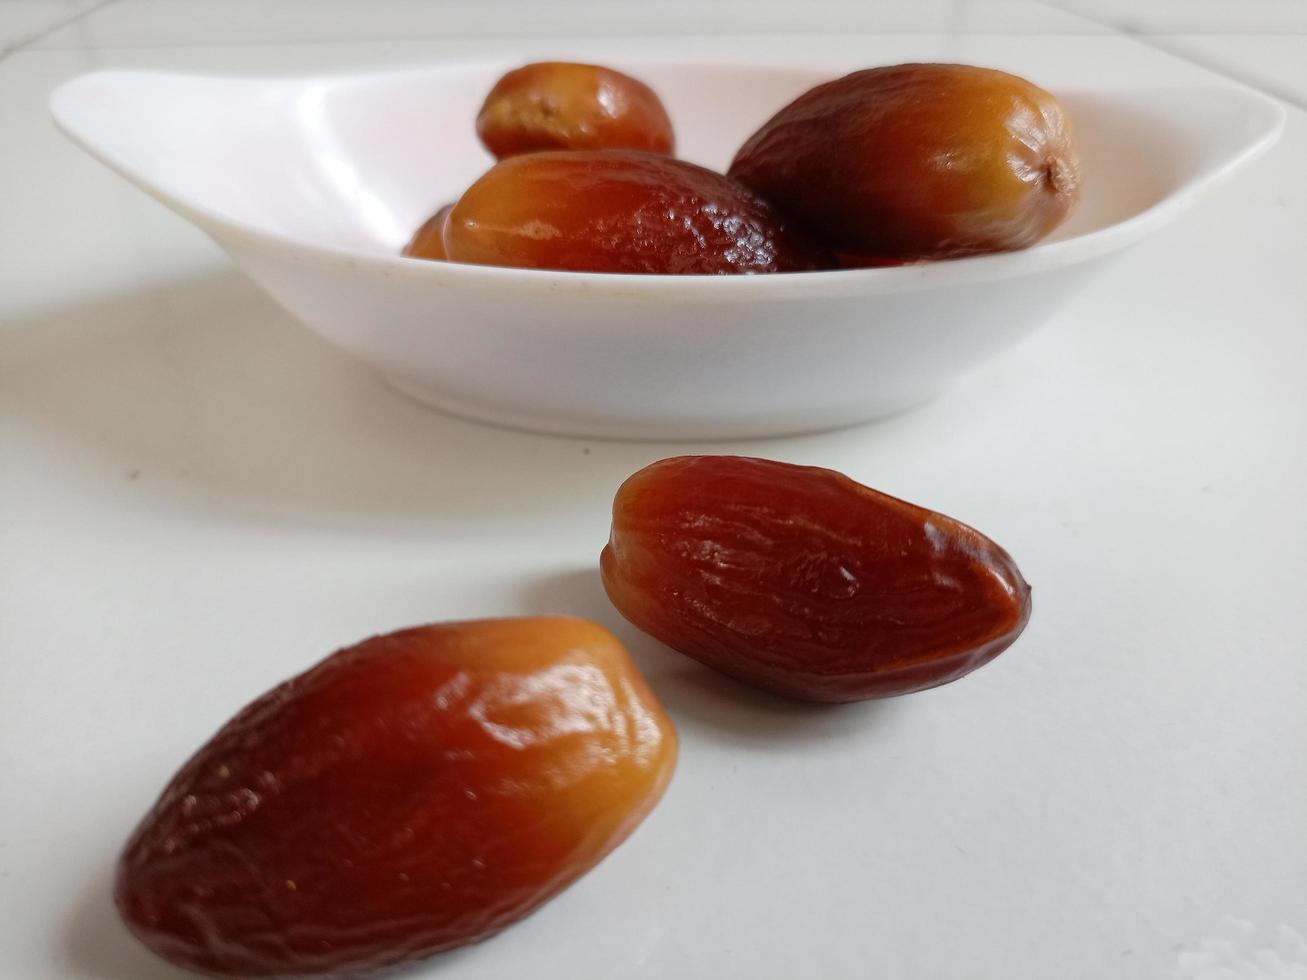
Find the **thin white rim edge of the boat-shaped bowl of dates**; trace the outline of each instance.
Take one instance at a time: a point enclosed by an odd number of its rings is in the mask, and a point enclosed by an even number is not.
[[[1240,148],[1231,152],[1206,174],[1188,182],[1144,210],[1124,221],[1106,227],[1086,231],[1073,238],[1056,242],[1036,243],[1029,248],[993,252],[988,255],[962,256],[957,259],[927,260],[894,267],[859,269],[818,269],[812,272],[779,272],[766,274],[685,274],[659,276],[648,273],[601,273],[565,272],[554,269],[523,269],[499,265],[473,265],[469,263],[433,261],[406,256],[400,252],[388,253],[367,248],[307,242],[293,235],[259,227],[250,222],[230,218],[209,210],[203,204],[178,197],[152,180],[141,176],[125,161],[84,133],[74,119],[80,91],[91,85],[123,78],[149,77],[167,80],[184,77],[190,80],[218,84],[247,85],[286,85],[286,86],[341,86],[379,80],[395,80],[404,76],[429,76],[451,71],[494,69],[518,64],[515,59],[448,60],[439,64],[409,65],[357,72],[311,73],[311,74],[213,74],[205,72],[161,72],[144,69],[107,69],[88,72],[59,85],[50,95],[48,105],[56,127],[76,145],[95,159],[125,178],[140,189],[175,210],[182,217],[197,225],[222,244],[234,247],[257,247],[280,252],[284,257],[303,261],[306,259],[348,268],[366,270],[409,282],[429,281],[442,287],[467,285],[485,291],[497,293],[510,286],[515,291],[528,291],[558,297],[566,293],[587,295],[601,294],[608,298],[646,299],[665,295],[668,291],[685,293],[693,297],[721,301],[755,302],[767,298],[802,297],[816,291],[823,297],[872,293],[916,291],[963,286],[976,282],[995,282],[1039,272],[1060,269],[1091,259],[1120,251],[1140,240],[1154,229],[1170,222],[1187,210],[1193,201],[1216,183],[1222,182],[1234,171],[1256,157],[1260,157],[1280,139],[1285,127],[1286,111],[1277,101],[1251,86],[1218,78],[1210,84],[1155,85],[1145,86],[1149,91],[1161,90],[1219,90],[1226,94],[1239,94],[1249,106],[1264,112],[1264,123],[1259,132],[1251,136]],[[680,68],[771,68],[793,72],[830,74],[830,64],[817,64],[812,60],[786,60],[780,57],[750,57],[737,60],[707,61],[703,59],[672,57],[614,57],[612,64],[620,68],[630,67],[680,67]],[[835,72],[842,71],[835,68]],[[855,69],[856,71],[856,69]],[[839,74],[831,74],[839,77]],[[1067,93],[1093,91],[1095,94],[1116,95],[1138,93],[1141,86],[1103,85],[1087,89],[1063,89]]]

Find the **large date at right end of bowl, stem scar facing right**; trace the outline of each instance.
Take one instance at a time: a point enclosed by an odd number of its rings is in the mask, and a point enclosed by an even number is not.
[[[1025,248],[1061,223],[1080,189],[1057,99],[955,64],[819,85],[749,137],[729,174],[835,251],[867,259]]]

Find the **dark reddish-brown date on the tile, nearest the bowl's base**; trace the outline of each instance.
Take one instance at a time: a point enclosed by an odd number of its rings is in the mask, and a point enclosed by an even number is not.
[[[1030,618],[993,541],[829,469],[680,456],[630,477],[600,559],[613,605],[746,683],[817,702],[954,681]]]

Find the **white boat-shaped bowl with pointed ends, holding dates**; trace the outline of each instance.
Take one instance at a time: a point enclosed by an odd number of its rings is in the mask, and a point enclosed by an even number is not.
[[[1056,89],[1080,136],[1084,197],[1053,238],[1008,255],[738,277],[401,257],[413,230],[489,165],[473,119],[510,67],[99,72],[58,89],[51,107],[73,140],[400,391],[510,426],[633,438],[796,433],[924,401],[1038,327],[1283,123],[1276,103],[1234,85]],[[839,73],[616,67],[663,95],[681,154],[718,169],[776,108]]]

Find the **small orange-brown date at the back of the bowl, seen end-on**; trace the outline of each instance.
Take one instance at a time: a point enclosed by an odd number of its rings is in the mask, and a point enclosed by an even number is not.
[[[536,150],[670,153],[672,120],[642,81],[595,64],[541,61],[508,72],[477,115],[498,159]]]

